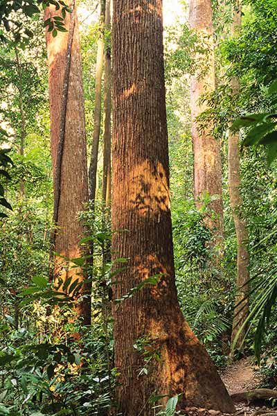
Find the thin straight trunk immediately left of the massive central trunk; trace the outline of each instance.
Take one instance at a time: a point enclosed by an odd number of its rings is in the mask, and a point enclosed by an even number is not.
[[[111,31],[111,2],[106,0],[105,31]],[[111,46],[105,45],[104,66],[104,132],[102,204],[107,208],[111,201]]]

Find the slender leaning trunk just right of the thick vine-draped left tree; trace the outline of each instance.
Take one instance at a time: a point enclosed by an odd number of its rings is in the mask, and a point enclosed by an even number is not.
[[[94,207],[94,200],[96,198],[96,175],[98,162],[98,148],[100,139],[100,125],[101,125],[101,84],[102,84],[102,69],[104,60],[104,26],[105,26],[105,3],[106,0],[100,1],[100,19],[99,19],[99,38],[97,44],[97,58],[96,58],[96,89],[94,97],[94,116],[93,116],[93,141],[91,148],[91,162],[89,165],[89,200],[91,200]]]

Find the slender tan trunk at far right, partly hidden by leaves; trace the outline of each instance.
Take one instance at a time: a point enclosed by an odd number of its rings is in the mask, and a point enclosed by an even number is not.
[[[233,10],[233,27],[232,34],[241,27],[241,6],[240,1],[235,3]],[[231,87],[233,89],[233,96],[238,96],[240,92],[240,81],[234,77],[231,79]],[[235,223],[235,233],[237,235],[237,282],[235,295],[235,309],[233,317],[233,331],[231,341],[240,330],[240,327],[249,313],[249,252],[248,232],[246,220],[242,217],[242,195],[240,193],[240,134],[229,132],[229,194],[230,205],[233,213],[233,220]],[[237,345],[240,346],[244,340],[247,328],[240,332],[238,336]]]

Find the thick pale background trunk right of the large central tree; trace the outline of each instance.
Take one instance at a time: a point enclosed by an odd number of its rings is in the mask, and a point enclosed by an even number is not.
[[[206,193],[212,200],[209,205],[215,215],[206,216],[206,225],[215,236],[215,243],[222,245],[224,223],[222,202],[222,162],[220,140],[213,137],[210,123],[200,129],[197,116],[207,110],[201,102],[203,94],[215,91],[215,55],[213,44],[213,20],[211,0],[190,0],[190,27],[195,30],[206,49],[205,69],[199,69],[191,78],[190,102],[194,153],[195,202],[201,207]],[[203,59],[203,54],[201,55]],[[199,55],[200,57],[200,55]],[[197,57],[196,57],[197,58]]]

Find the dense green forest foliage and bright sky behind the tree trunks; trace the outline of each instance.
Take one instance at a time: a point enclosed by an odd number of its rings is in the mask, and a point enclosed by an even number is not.
[[[213,218],[216,215],[211,209],[213,200],[206,193],[202,196],[201,206],[195,207],[193,183],[190,76],[199,69],[206,71],[206,43],[205,40],[200,42],[189,28],[188,4],[177,0],[163,4],[178,298],[190,327],[217,367],[224,367],[230,359],[237,291],[238,243],[229,196],[230,126],[245,114],[263,114],[265,118],[266,114],[274,114],[276,110],[276,6],[275,0],[245,1],[242,28],[234,35],[233,3],[213,1],[217,87],[211,93],[203,91],[206,110],[198,122],[204,129],[212,120],[213,137],[220,144],[224,205],[224,243],[220,250],[224,254],[219,255],[218,245],[213,243],[216,236],[206,220],[207,216]],[[88,155],[95,132],[99,13],[97,3],[78,3]],[[84,329],[81,321],[71,317],[70,300],[57,299],[48,286],[53,180],[46,42],[42,13],[21,13],[17,19],[24,22],[25,28],[20,40],[15,42],[4,27],[0,32],[0,146],[1,161],[7,172],[1,171],[3,190],[2,185],[0,187],[3,206],[3,218],[0,219],[0,331],[3,335],[0,340],[0,414],[106,415],[114,403],[117,370],[113,362],[113,320],[107,306],[114,264],[109,256],[105,257],[111,231],[109,207],[105,211],[102,209],[103,122],[97,157],[95,212],[80,213],[80,219],[90,229],[94,245],[92,320],[89,329]],[[56,35],[59,36],[59,32]],[[106,31],[105,48],[109,38],[110,32]],[[231,88],[234,77],[240,80],[240,89],[235,95]],[[103,88],[102,83],[102,92]],[[103,102],[101,111],[103,120]],[[244,119],[237,124],[249,129],[247,123]],[[231,354],[234,357],[256,354],[260,371],[266,376],[265,385],[274,387],[277,377],[274,157],[277,148],[270,146],[268,153],[267,146],[242,146],[245,138],[254,137],[258,142],[265,132],[270,131],[262,123],[258,123],[260,132],[256,131],[254,135],[252,132],[252,136],[242,130],[240,217],[247,224],[249,239],[251,313],[245,325],[245,338],[241,345],[237,343]],[[119,259],[119,262],[124,266],[125,259]],[[84,266],[83,259],[75,259],[75,266]],[[62,313],[60,309],[54,309],[56,313],[49,314],[49,305],[53,304],[59,304]],[[268,327],[267,331],[265,327]],[[138,340],[134,348],[144,356],[145,365],[140,371],[147,375],[151,361],[156,359],[149,354],[148,340]],[[87,371],[82,370],[81,363],[86,363]]]

